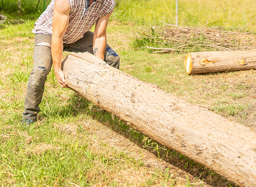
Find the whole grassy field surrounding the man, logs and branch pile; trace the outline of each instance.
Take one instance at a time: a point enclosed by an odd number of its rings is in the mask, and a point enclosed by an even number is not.
[[[49,0],[46,1],[46,5]],[[252,0],[180,0],[179,25],[256,29]],[[35,20],[42,2],[4,1],[2,14],[22,24],[0,25],[0,186],[195,186],[233,183],[187,157],[157,144],[108,112],[61,89],[51,70],[40,120],[20,125],[26,82],[33,67]],[[239,13],[238,13],[239,12]],[[252,20],[252,22],[250,22]],[[136,27],[175,23],[175,2],[117,0],[108,43],[121,57],[120,69],[188,102],[256,128],[255,70],[187,75],[185,54],[136,49]],[[68,53],[64,53],[64,56]],[[184,127],[185,128],[185,127]],[[246,143],[246,142],[245,142]]]

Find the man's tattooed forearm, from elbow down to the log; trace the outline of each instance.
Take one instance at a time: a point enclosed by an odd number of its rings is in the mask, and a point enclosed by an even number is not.
[[[104,60],[106,48],[106,36],[93,38],[93,54]]]

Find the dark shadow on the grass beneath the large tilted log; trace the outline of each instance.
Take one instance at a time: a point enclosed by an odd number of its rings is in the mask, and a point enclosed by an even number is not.
[[[204,181],[212,186],[226,187],[236,185],[228,182],[225,178],[217,173],[207,169],[206,167],[188,159],[174,150],[167,149],[165,146],[157,143],[143,133],[136,130],[131,130],[127,124],[120,121],[117,117],[112,117],[109,112],[101,110],[95,104],[83,99],[79,95],[72,95],[69,99],[69,105],[63,107],[63,110],[51,111],[52,115],[59,115],[60,117],[68,117],[69,115],[76,116],[84,113],[90,115],[93,119],[109,127],[118,134],[121,134],[128,140],[137,144],[140,148],[153,152],[157,157],[170,163],[192,176]],[[145,141],[146,140],[146,141]]]

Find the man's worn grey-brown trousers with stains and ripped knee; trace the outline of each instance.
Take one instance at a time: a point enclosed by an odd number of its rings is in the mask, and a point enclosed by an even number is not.
[[[51,43],[51,35],[35,34],[34,66],[27,81],[23,119],[37,119],[40,112],[39,104],[42,101],[45,81],[52,67]],[[93,33],[88,31],[83,38],[74,43],[63,43],[63,51],[93,54]],[[106,44],[104,60],[110,66],[119,69],[119,55],[108,44]]]

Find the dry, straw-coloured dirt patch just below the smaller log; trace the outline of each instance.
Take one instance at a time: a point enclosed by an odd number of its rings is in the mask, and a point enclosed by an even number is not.
[[[234,114],[229,114],[220,110],[219,114],[254,128],[256,123],[256,103],[254,103],[256,99],[255,75],[255,70],[217,73],[215,75],[192,75],[188,77],[188,84],[194,86],[195,89],[187,90],[184,98],[189,102],[196,101],[196,104],[208,108],[236,104],[244,106],[245,109],[242,110],[244,112],[240,111],[241,113],[234,112]]]

